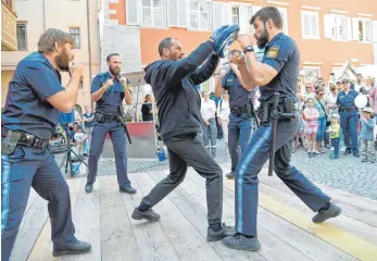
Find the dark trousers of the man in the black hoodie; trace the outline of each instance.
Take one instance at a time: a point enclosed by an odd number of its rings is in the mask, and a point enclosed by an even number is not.
[[[206,206],[209,224],[222,222],[223,214],[223,171],[205,149],[197,134],[185,134],[165,140],[168,149],[171,173],[162,179],[142,204],[152,208],[173,191],[184,179],[190,164],[206,179]]]

